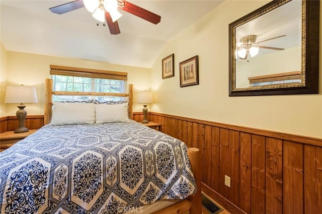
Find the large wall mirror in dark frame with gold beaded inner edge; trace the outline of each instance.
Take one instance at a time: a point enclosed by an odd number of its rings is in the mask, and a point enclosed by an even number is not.
[[[229,96],[318,93],[319,1],[275,0],[229,24]]]

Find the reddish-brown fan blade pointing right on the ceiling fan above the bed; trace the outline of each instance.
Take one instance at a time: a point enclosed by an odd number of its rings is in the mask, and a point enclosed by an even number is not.
[[[150,23],[153,23],[156,25],[161,21],[161,17],[159,15],[153,14],[152,12],[149,12],[149,11],[147,11],[143,8],[140,8],[136,5],[133,5],[132,3],[129,3],[125,0],[118,0],[118,3],[120,5],[121,10],[126,11],[130,14],[133,14],[143,20],[150,22]]]

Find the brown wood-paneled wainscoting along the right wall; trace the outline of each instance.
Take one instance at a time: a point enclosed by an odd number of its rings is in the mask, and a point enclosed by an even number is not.
[[[148,119],[201,149],[202,190],[231,213],[322,213],[322,139],[153,112]]]

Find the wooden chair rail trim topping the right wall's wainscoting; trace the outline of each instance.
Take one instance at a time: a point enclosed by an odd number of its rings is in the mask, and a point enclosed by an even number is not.
[[[235,130],[235,131],[241,131],[241,132],[247,132],[247,133],[251,133],[251,134],[263,135],[263,136],[266,136],[266,137],[275,137],[275,138],[279,138],[279,139],[283,139],[283,140],[289,140],[289,141],[293,141],[293,142],[299,142],[299,143],[303,143],[303,144],[322,147],[322,139],[315,138],[315,137],[308,137],[308,136],[302,136],[302,135],[296,135],[296,134],[287,134],[287,133],[269,131],[269,130],[264,130],[264,129],[257,129],[257,128],[250,128],[250,127],[244,127],[244,126],[230,125],[230,124],[211,122],[211,121],[199,120],[199,119],[192,119],[192,118],[187,118],[187,117],[182,117],[182,116],[162,114],[162,113],[156,113],[156,112],[149,112],[149,113],[150,113],[150,115],[168,117],[168,118],[173,118],[173,119],[178,119],[178,120],[184,120],[184,121],[187,121],[187,122],[193,122],[193,123],[199,123],[199,124],[204,124],[204,125],[216,126],[216,127],[219,127],[219,128],[226,128],[226,129],[231,129],[231,130]]]

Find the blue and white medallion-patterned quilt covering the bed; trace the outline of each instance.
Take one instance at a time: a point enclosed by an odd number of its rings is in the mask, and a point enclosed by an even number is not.
[[[121,213],[195,192],[187,146],[135,121],[45,125],[0,152],[1,213]]]

